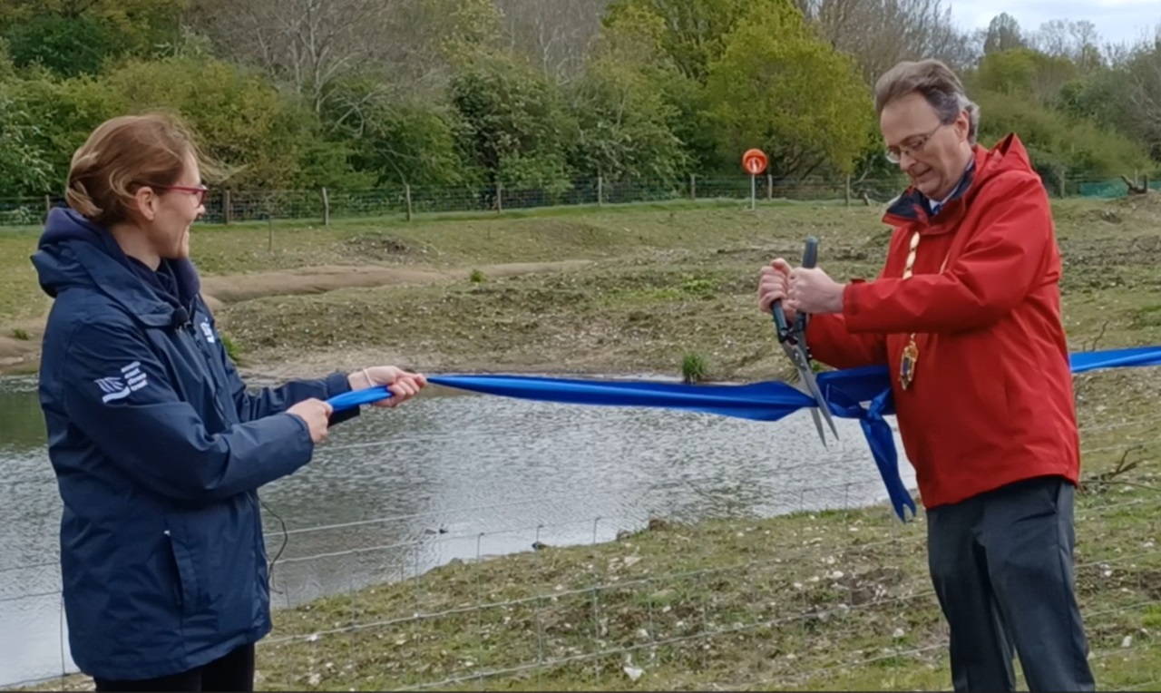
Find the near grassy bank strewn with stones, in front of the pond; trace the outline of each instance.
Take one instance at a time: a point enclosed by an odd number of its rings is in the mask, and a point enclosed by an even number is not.
[[[1155,690],[1161,679],[1161,557],[1146,548],[1158,527],[1141,518],[1155,510],[1145,491],[1081,503],[1077,582],[1104,688]],[[654,527],[604,546],[447,566],[282,614],[262,650],[264,685],[949,686],[922,522],[854,511]],[[633,680],[626,666],[643,676]]]

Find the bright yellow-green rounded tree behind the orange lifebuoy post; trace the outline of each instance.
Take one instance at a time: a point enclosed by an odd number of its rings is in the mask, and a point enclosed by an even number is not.
[[[850,173],[868,145],[870,91],[846,55],[817,41],[788,1],[753,5],[711,65],[707,93],[722,146],[770,156],[776,176]]]

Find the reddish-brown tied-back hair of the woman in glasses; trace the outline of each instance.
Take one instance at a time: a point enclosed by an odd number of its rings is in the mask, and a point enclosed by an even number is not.
[[[123,222],[139,188],[174,185],[190,157],[199,168],[208,167],[193,132],[178,116],[108,120],[73,154],[65,202],[98,225]]]

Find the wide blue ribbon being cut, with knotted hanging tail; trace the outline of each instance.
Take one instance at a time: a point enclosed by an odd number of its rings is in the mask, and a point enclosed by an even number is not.
[[[1069,356],[1072,371],[1104,368],[1161,366],[1161,347],[1133,347],[1080,352]],[[895,514],[907,520],[906,508],[916,513],[915,500],[899,475],[895,436],[885,417],[895,413],[890,376],[886,366],[870,366],[817,374],[819,389],[831,416],[858,419],[863,434]],[[596,381],[518,375],[439,375],[427,382],[520,399],[607,406],[654,406],[683,409],[723,417],[777,421],[795,411],[816,406],[807,394],[788,383],[766,381],[745,385],[687,385],[642,381]],[[390,397],[385,387],[353,390],[327,402],[334,411],[370,404]],[[863,403],[867,403],[866,406]]]

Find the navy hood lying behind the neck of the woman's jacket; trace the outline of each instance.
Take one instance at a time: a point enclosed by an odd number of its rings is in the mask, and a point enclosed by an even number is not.
[[[56,298],[72,288],[98,290],[151,326],[173,324],[173,313],[201,291],[189,260],[161,260],[157,272],[128,257],[113,236],[80,212],[56,207],[31,255],[41,289]]]

